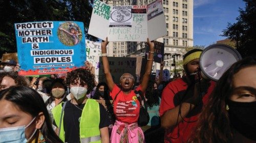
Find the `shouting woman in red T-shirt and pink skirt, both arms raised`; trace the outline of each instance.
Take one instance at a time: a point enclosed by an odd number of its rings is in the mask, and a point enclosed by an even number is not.
[[[148,80],[150,79],[151,69],[153,65],[154,43],[147,39],[147,44],[150,47],[145,74],[143,75],[141,84],[135,89],[143,94],[147,88]],[[140,111],[140,102],[137,99],[134,87],[134,77],[130,73],[124,73],[120,77],[120,88],[114,83],[110,72],[109,61],[106,54],[106,45],[108,38],[101,43],[103,70],[106,78],[106,83],[110,89],[110,96],[114,99],[114,114],[116,122],[111,133],[111,142],[144,142],[144,134],[138,127],[138,118]]]

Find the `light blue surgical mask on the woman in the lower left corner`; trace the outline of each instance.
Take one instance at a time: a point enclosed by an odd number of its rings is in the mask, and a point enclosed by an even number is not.
[[[27,126],[18,126],[11,128],[2,128],[0,129],[0,141],[1,142],[11,142],[11,143],[26,143],[30,140],[37,129],[35,129],[34,133],[29,137],[29,139],[25,136],[25,129],[29,127],[35,118],[27,125]]]

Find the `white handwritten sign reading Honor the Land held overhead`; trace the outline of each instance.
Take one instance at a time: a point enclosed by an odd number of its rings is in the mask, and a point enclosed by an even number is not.
[[[98,5],[108,7],[102,16],[97,13]],[[111,11],[111,12],[110,12]],[[110,13],[109,13],[110,12]],[[148,26],[150,25],[150,26]],[[94,3],[88,34],[109,41],[151,41],[167,35],[162,1],[157,0],[144,6],[111,7],[98,0]],[[153,31],[157,31],[154,33]]]

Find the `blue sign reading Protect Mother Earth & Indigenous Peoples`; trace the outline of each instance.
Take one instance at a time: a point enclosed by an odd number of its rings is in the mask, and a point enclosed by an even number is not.
[[[15,23],[20,75],[67,73],[86,60],[83,23]]]

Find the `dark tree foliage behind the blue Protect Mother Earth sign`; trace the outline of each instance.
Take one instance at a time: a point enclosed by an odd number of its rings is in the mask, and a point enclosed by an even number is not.
[[[0,0],[0,58],[3,53],[16,52],[14,23],[32,21],[81,21],[87,34],[92,14],[91,3],[83,0]]]

